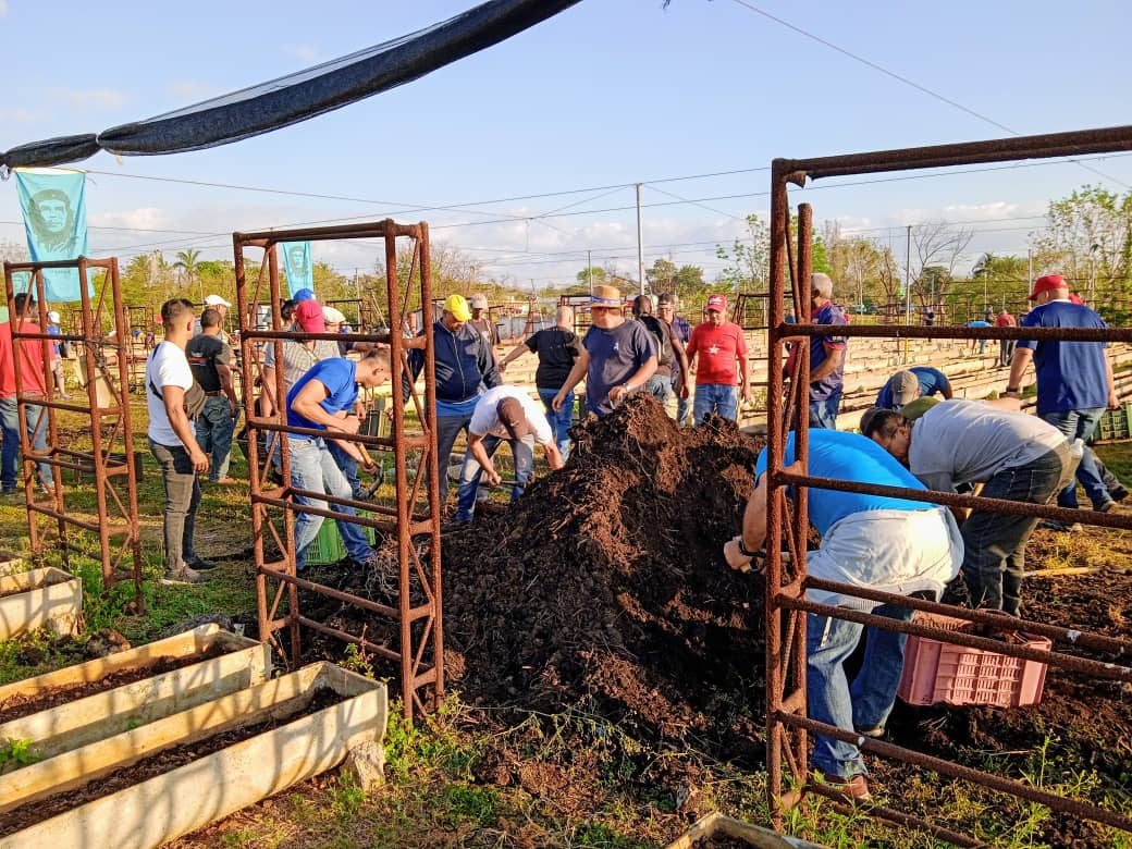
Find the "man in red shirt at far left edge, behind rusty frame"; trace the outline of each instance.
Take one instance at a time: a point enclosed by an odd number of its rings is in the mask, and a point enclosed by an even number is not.
[[[32,295],[20,292],[15,298],[16,321],[19,333],[43,333],[32,316],[35,301]],[[19,318],[24,316],[24,318]],[[43,340],[38,345],[32,340],[19,343],[19,391],[25,397],[45,397],[46,369],[50,369],[51,343]],[[46,354],[46,360],[44,360]],[[49,365],[44,367],[44,362]],[[45,451],[48,447],[48,418],[38,404],[25,406],[27,438],[32,447]],[[16,477],[19,466],[19,410],[16,402],[16,354],[11,337],[11,321],[0,324],[0,496],[19,495]],[[40,477],[44,487],[54,482],[51,466],[40,463]]]

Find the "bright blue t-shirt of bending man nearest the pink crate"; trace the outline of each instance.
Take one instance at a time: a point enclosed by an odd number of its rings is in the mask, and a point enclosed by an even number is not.
[[[786,444],[786,465],[794,462],[794,434]],[[758,454],[755,474],[766,471],[766,449]],[[900,465],[889,452],[860,434],[848,430],[809,431],[809,473],[815,478],[837,478],[883,487],[906,487],[926,490],[911,472]],[[865,511],[926,511],[935,505],[907,501],[903,498],[840,492],[832,489],[809,490],[809,521],[825,535],[837,522]]]

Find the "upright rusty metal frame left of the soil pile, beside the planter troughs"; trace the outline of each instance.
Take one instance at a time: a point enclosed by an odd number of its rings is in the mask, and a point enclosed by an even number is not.
[[[412,240],[412,260],[405,284],[397,268],[397,240]],[[288,241],[331,241],[343,239],[381,239],[385,246],[386,294],[389,303],[389,326],[394,332],[388,336],[381,334],[310,334],[290,332],[282,326],[280,306],[283,293],[280,290],[278,261],[276,246]],[[243,403],[248,422],[248,464],[251,483],[251,525],[254,535],[254,557],[256,571],[256,598],[259,618],[259,635],[261,640],[271,640],[284,655],[290,655],[293,664],[301,662],[301,629],[303,627],[338,640],[360,645],[384,660],[398,664],[401,692],[406,718],[423,712],[444,695],[444,623],[441,603],[440,573],[440,470],[443,463],[437,462],[436,431],[432,427],[436,413],[436,378],[432,340],[432,321],[424,320],[424,369],[421,378],[424,383],[423,398],[412,386],[408,398],[402,394],[402,376],[409,372],[406,350],[400,328],[410,315],[414,294],[413,280],[417,278],[415,293],[420,305],[432,303],[431,267],[429,255],[428,224],[397,224],[392,220],[354,224],[349,226],[328,226],[305,230],[278,230],[256,233],[233,233],[235,254],[235,297],[240,316],[241,369],[245,392]],[[257,248],[264,251],[258,276],[249,281],[246,272],[245,250]],[[265,291],[266,289],[266,291]],[[259,314],[258,307],[269,303],[272,328],[256,329],[254,321]],[[395,312],[395,316],[393,315]],[[289,427],[285,410],[276,410],[273,417],[261,417],[255,409],[251,387],[259,362],[256,355],[256,343],[267,342],[275,346],[275,397],[286,397],[283,376],[283,343],[285,340],[332,340],[335,342],[385,342],[391,346],[391,365],[393,369],[391,437],[362,436],[345,437],[362,446],[392,449],[394,456],[394,481],[396,487],[396,506],[376,506],[368,501],[336,498],[323,494],[310,492],[291,484],[291,460],[288,448],[288,434],[321,435],[324,431]],[[412,385],[412,380],[406,380]],[[423,432],[410,435],[405,428],[406,404],[412,402],[421,421]],[[284,405],[276,405],[284,406]],[[267,438],[267,456],[260,458],[259,435],[263,431]],[[420,453],[418,474],[410,482],[406,458],[409,452]],[[284,483],[275,487],[269,483],[273,466],[273,454],[278,453],[278,463]],[[427,474],[426,474],[427,470]],[[423,491],[422,491],[423,486]],[[295,496],[318,497],[331,504],[340,504],[368,511],[375,517],[357,516],[351,520],[328,509],[318,509],[300,505]],[[427,501],[427,509],[415,509],[421,497]],[[374,528],[389,534],[395,540],[398,565],[397,607],[391,607],[335,588],[319,584],[316,581],[300,577],[295,571],[294,515],[305,512],[338,521],[354,521],[355,524]],[[281,518],[281,526],[273,522],[272,516]],[[378,518],[377,516],[383,516]],[[418,551],[415,539],[427,538],[428,557],[422,558]],[[267,559],[268,547],[274,543],[278,557]],[[424,561],[422,561],[422,559]],[[415,581],[423,591],[424,602],[413,604],[410,585]],[[389,648],[375,643],[361,634],[349,634],[321,621],[302,615],[299,590],[318,593],[355,606],[371,614],[387,618],[397,627],[397,645]],[[283,601],[286,601],[285,610]],[[290,651],[283,649],[277,632],[285,631],[289,636]],[[422,695],[421,689],[427,694]]]

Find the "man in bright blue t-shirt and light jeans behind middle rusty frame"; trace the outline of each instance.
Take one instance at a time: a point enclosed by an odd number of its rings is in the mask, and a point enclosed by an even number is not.
[[[358,386],[376,387],[389,379],[389,355],[387,351],[370,351],[359,362],[341,357],[332,357],[315,363],[299,379],[286,396],[286,423],[292,428],[309,428],[325,431],[326,436],[288,434],[288,451],[291,457],[291,486],[309,492],[351,498],[353,490],[327,448],[327,440],[335,434],[357,434],[359,415],[363,406],[358,402]],[[357,443],[334,439],[335,444],[363,468],[371,464]],[[353,507],[329,504],[316,496],[295,495],[294,500],[306,507],[331,509],[345,516],[357,516]],[[295,568],[306,566],[307,549],[315,541],[323,525],[323,516],[298,511],[294,521]],[[374,549],[366,540],[360,525],[353,522],[337,522],[338,533],[346,552],[354,564],[369,563]]]

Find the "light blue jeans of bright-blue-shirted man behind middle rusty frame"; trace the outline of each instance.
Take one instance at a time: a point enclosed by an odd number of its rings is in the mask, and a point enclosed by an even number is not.
[[[351,498],[353,491],[346,483],[345,475],[334,462],[325,440],[321,438],[297,439],[288,437],[288,447],[291,452],[291,486],[299,489],[309,489],[314,492],[325,492],[337,498]],[[353,507],[345,507],[338,504],[329,504],[319,498],[307,498],[295,496],[297,504],[307,507],[326,509],[329,507],[335,513],[343,516],[357,516]],[[338,533],[342,534],[342,542],[346,547],[346,554],[358,563],[365,563],[374,556],[374,549],[366,540],[366,533],[361,525],[353,522],[337,522]],[[298,511],[294,520],[294,565],[295,568],[303,568],[307,565],[307,549],[315,541],[319,529],[323,526],[323,517],[312,513]]]

